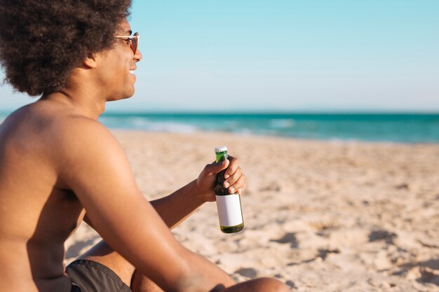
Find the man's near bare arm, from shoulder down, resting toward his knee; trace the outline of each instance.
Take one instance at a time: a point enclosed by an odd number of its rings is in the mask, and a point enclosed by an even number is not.
[[[61,139],[60,174],[93,228],[165,291],[210,291],[234,281],[182,246],[143,197],[119,143],[102,125],[75,122]],[[160,209],[160,208],[159,208]],[[172,268],[170,268],[172,267]]]

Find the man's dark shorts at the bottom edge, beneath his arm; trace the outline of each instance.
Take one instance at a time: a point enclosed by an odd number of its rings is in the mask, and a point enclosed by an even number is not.
[[[93,260],[75,260],[65,271],[72,292],[132,292],[115,272]]]

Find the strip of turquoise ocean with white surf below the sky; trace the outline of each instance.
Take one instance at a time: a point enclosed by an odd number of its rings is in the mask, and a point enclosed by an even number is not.
[[[7,113],[0,113],[0,122]],[[231,132],[333,141],[439,143],[439,113],[104,113],[112,129]]]

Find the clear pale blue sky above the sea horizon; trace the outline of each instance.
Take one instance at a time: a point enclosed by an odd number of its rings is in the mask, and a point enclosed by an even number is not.
[[[439,112],[438,15],[437,0],[134,0],[135,95],[107,111]],[[34,100],[0,87],[0,111]]]

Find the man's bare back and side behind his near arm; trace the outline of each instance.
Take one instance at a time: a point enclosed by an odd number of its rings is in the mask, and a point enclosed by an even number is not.
[[[36,102],[0,125],[1,291],[69,291],[64,243],[85,211],[60,181],[50,143],[69,116]]]

